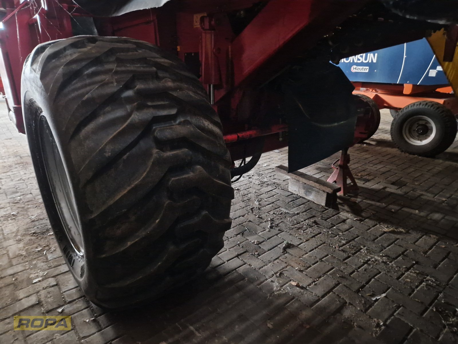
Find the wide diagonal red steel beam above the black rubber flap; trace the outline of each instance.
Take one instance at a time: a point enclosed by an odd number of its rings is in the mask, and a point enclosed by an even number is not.
[[[234,86],[263,83],[368,0],[272,0],[231,46]],[[219,92],[220,99],[227,90]]]

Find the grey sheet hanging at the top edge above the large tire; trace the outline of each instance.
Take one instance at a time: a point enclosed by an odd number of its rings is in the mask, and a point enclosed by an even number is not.
[[[74,0],[74,2],[98,17],[114,17],[121,14],[160,7],[169,0]]]

